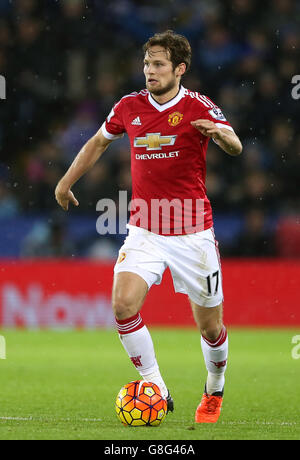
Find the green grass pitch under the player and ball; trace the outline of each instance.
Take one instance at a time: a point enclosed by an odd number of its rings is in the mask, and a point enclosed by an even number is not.
[[[221,417],[197,425],[206,370],[192,329],[151,329],[175,411],[160,427],[124,427],[114,401],[137,379],[114,331],[0,331],[0,439],[300,439],[298,330],[229,329]],[[297,350],[296,350],[297,351]]]

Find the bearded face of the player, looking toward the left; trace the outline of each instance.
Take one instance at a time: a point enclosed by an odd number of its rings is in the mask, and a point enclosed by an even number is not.
[[[144,74],[146,87],[155,96],[168,93],[179,83],[169,59],[169,52],[161,46],[152,46],[146,52]]]

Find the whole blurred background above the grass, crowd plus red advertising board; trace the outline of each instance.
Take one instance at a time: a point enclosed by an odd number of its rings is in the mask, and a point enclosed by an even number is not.
[[[184,86],[211,97],[244,145],[231,159],[210,143],[207,157],[227,323],[300,325],[299,17],[296,0],[0,0],[0,325],[113,324],[124,235],[96,232],[96,203],[130,192],[127,138],[74,187],[79,208],[60,212],[54,189],[112,105],[144,88],[142,44],[167,28],[193,48]],[[167,274],[150,324],[192,324],[172,291]]]

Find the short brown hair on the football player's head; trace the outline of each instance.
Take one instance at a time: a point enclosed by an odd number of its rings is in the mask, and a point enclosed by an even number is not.
[[[153,35],[153,37],[150,37],[144,44],[144,54],[146,54],[146,51],[148,51],[151,46],[162,46],[169,51],[173,69],[184,62],[186,71],[189,70],[192,59],[192,49],[188,40],[183,35],[176,34],[173,30],[157,33]]]

